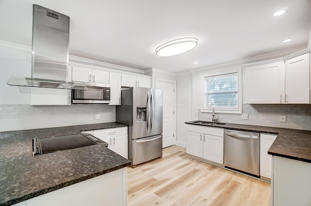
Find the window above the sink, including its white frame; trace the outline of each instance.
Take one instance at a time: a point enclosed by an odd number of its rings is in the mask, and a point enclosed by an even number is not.
[[[241,71],[204,75],[203,112],[241,113]]]

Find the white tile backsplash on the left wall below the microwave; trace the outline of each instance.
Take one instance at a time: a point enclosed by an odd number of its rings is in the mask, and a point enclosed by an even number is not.
[[[95,119],[95,113],[101,119]],[[63,127],[115,121],[115,106],[30,106],[0,104],[0,132],[45,127]]]

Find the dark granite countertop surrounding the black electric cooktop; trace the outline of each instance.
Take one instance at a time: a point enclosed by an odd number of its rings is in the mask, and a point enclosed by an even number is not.
[[[126,126],[111,122],[0,132],[0,206],[14,205],[130,165],[128,159],[102,144],[33,157],[33,138]]]

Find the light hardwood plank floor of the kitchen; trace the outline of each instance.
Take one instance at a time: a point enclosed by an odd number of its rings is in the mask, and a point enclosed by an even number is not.
[[[187,158],[170,146],[163,158],[128,167],[129,206],[270,206],[270,184]]]

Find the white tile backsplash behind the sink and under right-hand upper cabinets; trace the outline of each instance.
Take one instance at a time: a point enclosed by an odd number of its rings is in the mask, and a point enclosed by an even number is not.
[[[248,114],[247,120],[241,114],[215,112],[215,116],[219,116],[219,122],[311,130],[311,105],[244,104],[242,112]],[[199,110],[198,114],[199,120],[212,119],[211,113]],[[286,115],[286,122],[280,122],[279,115]]]

